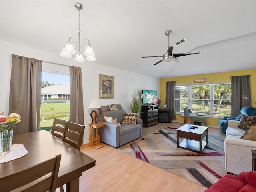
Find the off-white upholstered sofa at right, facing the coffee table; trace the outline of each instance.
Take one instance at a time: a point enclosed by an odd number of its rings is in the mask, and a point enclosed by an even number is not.
[[[238,128],[240,121],[228,121],[224,141],[225,170],[229,173],[252,171],[252,152],[256,150],[256,141],[240,139],[245,133]]]

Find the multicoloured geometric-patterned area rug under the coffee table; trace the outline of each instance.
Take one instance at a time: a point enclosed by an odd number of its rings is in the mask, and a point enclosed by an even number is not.
[[[176,128],[167,127],[118,150],[182,178],[210,187],[226,175],[223,145],[224,136],[208,134],[208,144],[202,154],[180,149],[177,148]]]

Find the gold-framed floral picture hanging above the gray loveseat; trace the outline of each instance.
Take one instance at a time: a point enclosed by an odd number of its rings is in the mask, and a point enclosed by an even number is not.
[[[100,74],[100,99],[114,98],[114,77]]]

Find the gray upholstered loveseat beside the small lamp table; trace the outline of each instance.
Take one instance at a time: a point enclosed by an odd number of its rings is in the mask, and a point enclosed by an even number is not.
[[[108,105],[101,106],[99,108],[100,113],[98,114],[97,122],[105,124],[104,127],[98,129],[100,141],[118,148],[142,137],[142,119],[137,118],[136,124],[122,123],[126,112],[120,104],[115,105],[118,110],[114,111],[110,111]],[[116,118],[122,128],[116,124],[106,122],[104,116]]]

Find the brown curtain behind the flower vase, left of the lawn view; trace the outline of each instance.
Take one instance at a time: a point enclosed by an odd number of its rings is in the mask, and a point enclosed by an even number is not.
[[[40,130],[42,60],[12,55],[9,113],[21,115],[14,134]]]

